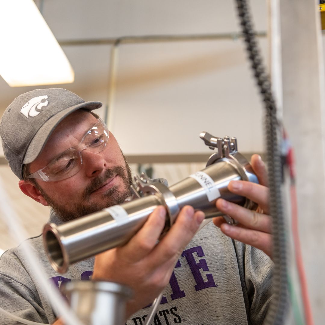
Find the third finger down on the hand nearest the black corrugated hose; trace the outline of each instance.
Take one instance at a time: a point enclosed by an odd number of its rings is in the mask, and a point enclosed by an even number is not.
[[[217,200],[217,209],[224,214],[228,214],[231,218],[237,220],[242,226],[247,228],[271,233],[271,220],[266,214],[260,214],[242,206],[228,202],[224,199]],[[221,226],[223,222],[220,219],[216,220],[217,226]]]

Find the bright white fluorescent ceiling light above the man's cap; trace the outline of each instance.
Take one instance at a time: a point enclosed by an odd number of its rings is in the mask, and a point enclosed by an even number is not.
[[[72,83],[73,69],[33,0],[0,0],[0,74],[11,87]]]

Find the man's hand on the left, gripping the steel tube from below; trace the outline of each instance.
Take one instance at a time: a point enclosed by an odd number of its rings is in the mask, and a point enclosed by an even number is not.
[[[175,263],[204,219],[201,211],[185,206],[167,234],[157,240],[165,224],[166,210],[159,206],[124,246],[98,254],[92,279],[130,286],[134,297],[126,316],[149,305],[168,284]]]

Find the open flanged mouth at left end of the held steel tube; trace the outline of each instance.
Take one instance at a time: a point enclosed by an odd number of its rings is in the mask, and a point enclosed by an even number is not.
[[[61,243],[60,234],[54,223],[46,224],[43,229],[43,244],[46,255],[55,271],[65,273],[69,266],[68,254]]]

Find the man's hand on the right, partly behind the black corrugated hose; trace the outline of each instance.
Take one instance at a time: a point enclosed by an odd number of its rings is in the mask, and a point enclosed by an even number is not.
[[[269,213],[269,190],[267,188],[267,173],[265,164],[259,155],[251,159],[253,171],[260,184],[247,181],[232,181],[228,185],[230,192],[242,195],[256,202],[256,211],[248,210],[238,204],[218,199],[216,207],[228,214],[240,224],[228,225],[223,217],[216,217],[213,222],[227,236],[254,246],[272,257],[271,218]]]

